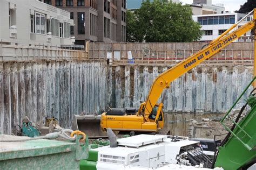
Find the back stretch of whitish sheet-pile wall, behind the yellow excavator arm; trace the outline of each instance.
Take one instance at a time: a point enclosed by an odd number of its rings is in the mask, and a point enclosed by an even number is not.
[[[138,108],[140,101],[146,100],[154,78],[166,69],[160,66],[109,67],[111,106]],[[171,83],[164,110],[226,112],[251,80],[252,67],[199,65]]]

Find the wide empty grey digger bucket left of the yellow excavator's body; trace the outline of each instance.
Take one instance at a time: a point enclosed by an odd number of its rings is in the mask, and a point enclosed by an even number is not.
[[[106,138],[107,134],[100,128],[100,115],[74,115],[72,130],[85,132],[89,138]]]

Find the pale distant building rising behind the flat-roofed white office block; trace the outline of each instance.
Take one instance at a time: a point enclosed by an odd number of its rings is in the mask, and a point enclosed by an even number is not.
[[[212,0],[193,0],[190,5],[193,15],[224,13],[224,4],[212,4]]]

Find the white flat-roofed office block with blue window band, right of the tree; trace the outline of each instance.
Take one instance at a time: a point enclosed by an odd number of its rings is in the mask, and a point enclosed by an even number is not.
[[[223,13],[212,15],[192,16],[195,22],[200,23],[204,35],[200,41],[211,41],[217,38],[221,33],[237,23],[245,14],[242,13]],[[244,23],[241,23],[242,25]],[[241,39],[241,38],[240,38]]]

